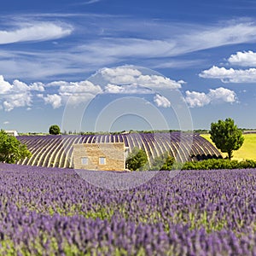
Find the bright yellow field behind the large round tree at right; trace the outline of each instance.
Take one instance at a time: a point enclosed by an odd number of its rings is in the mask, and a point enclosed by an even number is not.
[[[244,134],[244,143],[241,148],[234,151],[232,160],[256,160],[256,133]],[[201,134],[201,137],[206,138],[212,143],[210,134]],[[214,143],[212,143],[214,145]],[[224,154],[227,156],[227,154]]]

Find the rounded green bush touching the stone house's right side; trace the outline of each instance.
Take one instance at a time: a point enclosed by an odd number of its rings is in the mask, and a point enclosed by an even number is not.
[[[128,155],[125,166],[131,171],[143,170],[148,162],[148,157],[146,152],[140,148],[133,148],[131,153]]]

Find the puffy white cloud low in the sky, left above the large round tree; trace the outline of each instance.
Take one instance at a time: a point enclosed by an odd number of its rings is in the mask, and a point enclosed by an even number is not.
[[[201,108],[208,104],[216,103],[233,103],[236,102],[236,93],[223,87],[215,90],[210,89],[206,94],[204,92],[186,91],[185,101],[188,103],[189,108]]]

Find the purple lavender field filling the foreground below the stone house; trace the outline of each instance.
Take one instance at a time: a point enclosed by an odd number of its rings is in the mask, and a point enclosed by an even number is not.
[[[252,169],[158,172],[118,191],[0,164],[0,194],[1,255],[256,255]]]

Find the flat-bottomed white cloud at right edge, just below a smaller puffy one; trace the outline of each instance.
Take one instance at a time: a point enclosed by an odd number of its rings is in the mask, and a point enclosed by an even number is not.
[[[204,79],[220,79],[223,83],[255,83],[256,68],[242,70],[213,66],[202,71],[199,76]]]

